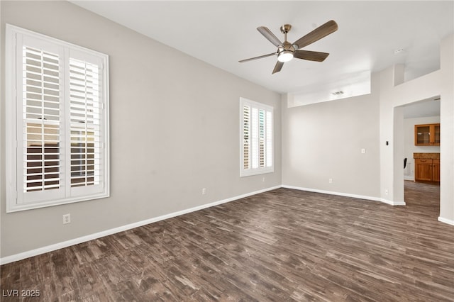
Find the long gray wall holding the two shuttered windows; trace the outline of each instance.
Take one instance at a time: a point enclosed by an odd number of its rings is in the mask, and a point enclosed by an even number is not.
[[[0,5],[1,257],[281,184],[279,94],[66,1]],[[110,56],[110,198],[6,213],[5,23]],[[239,177],[240,96],[275,107],[272,174]]]

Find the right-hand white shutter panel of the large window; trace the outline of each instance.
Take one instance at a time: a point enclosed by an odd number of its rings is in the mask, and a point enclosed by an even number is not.
[[[92,56],[70,51],[68,60],[71,195],[96,193],[104,187],[103,66]]]

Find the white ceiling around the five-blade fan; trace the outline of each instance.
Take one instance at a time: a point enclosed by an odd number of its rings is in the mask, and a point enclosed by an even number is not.
[[[350,76],[406,65],[406,80],[440,67],[439,43],[454,31],[453,1],[71,1],[165,45],[280,93],[336,86]],[[325,62],[294,59],[272,74],[275,52],[256,30],[292,25],[294,42],[329,20],[338,31],[304,47]],[[394,50],[404,49],[399,54]]]

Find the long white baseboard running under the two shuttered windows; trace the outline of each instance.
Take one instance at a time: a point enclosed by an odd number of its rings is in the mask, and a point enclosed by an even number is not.
[[[52,252],[52,251],[55,251],[55,250],[60,250],[60,249],[62,249],[64,247],[70,247],[72,245],[78,245],[79,243],[82,243],[82,242],[87,242],[89,240],[94,240],[94,239],[98,239],[98,238],[101,238],[101,237],[109,236],[109,235],[112,235],[112,234],[120,233],[120,232],[123,232],[125,230],[131,230],[133,228],[138,228],[138,227],[140,227],[142,225],[148,225],[150,223],[155,223],[155,222],[160,221],[160,220],[165,220],[165,219],[173,218],[173,217],[176,217],[176,216],[181,216],[181,215],[184,215],[184,214],[187,214],[187,213],[191,213],[191,212],[194,212],[194,211],[202,210],[204,208],[210,208],[211,206],[218,206],[219,204],[222,204],[222,203],[228,203],[230,201],[236,201],[236,200],[238,200],[240,198],[245,198],[245,197],[252,196],[252,195],[255,195],[255,194],[259,194],[259,193],[263,193],[263,192],[266,192],[266,191],[279,189],[280,187],[281,186],[272,186],[272,187],[267,188],[267,189],[262,189],[262,190],[250,192],[250,193],[247,193],[247,194],[234,196],[234,197],[231,197],[231,198],[226,198],[226,199],[223,199],[221,201],[214,201],[212,203],[206,203],[206,204],[201,205],[201,206],[195,206],[193,208],[187,208],[186,210],[177,211],[177,212],[174,212],[174,213],[158,216],[158,217],[155,217],[155,218],[150,218],[150,219],[147,219],[147,220],[138,221],[136,223],[131,223],[131,224],[128,224],[128,225],[120,226],[118,228],[111,228],[109,230],[104,230],[104,231],[99,232],[99,233],[94,233],[94,234],[90,234],[90,235],[87,235],[87,236],[74,238],[72,240],[58,242],[58,243],[55,243],[54,245],[48,245],[48,246],[45,246],[45,247],[40,247],[38,249],[30,250],[30,251],[27,251],[27,252],[21,252],[21,253],[18,253],[16,255],[3,257],[3,258],[0,258],[0,265],[1,264],[7,264],[7,263],[15,262],[15,261],[18,261],[18,260],[26,259],[26,258],[37,256],[37,255],[41,255],[41,254],[44,254],[46,252]]]

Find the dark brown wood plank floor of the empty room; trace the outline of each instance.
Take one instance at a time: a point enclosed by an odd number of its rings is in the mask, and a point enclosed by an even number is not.
[[[453,301],[454,227],[439,186],[407,206],[292,189],[1,267],[27,301]]]

